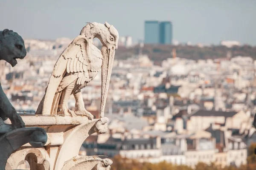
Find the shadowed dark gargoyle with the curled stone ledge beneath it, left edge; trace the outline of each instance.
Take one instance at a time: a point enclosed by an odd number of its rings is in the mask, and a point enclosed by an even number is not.
[[[9,29],[0,31],[0,60],[5,60],[14,67],[17,59],[23,59],[25,56],[26,49],[22,37]],[[8,118],[11,125],[3,122]],[[11,154],[28,142],[33,147],[42,147],[47,142],[47,134],[40,127],[25,128],[25,123],[0,85],[0,169],[4,170]]]

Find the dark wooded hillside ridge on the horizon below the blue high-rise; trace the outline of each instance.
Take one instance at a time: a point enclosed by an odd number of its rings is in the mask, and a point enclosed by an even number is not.
[[[256,59],[256,46],[250,45],[233,46],[227,48],[226,46],[189,46],[189,45],[144,45],[142,52],[147,54],[153,61],[163,61],[164,59],[172,57],[172,49],[176,49],[177,57],[186,59],[217,59],[227,57],[228,51],[230,51],[233,57],[235,56],[250,56]],[[139,54],[140,46],[136,45],[133,48],[119,47],[116,50],[117,59],[126,59],[132,55]]]

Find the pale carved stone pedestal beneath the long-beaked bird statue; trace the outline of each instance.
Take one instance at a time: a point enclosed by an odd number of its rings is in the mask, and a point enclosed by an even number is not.
[[[47,143],[39,148],[34,148],[29,143],[24,144],[9,157],[6,170],[18,169],[25,161],[29,163],[31,170],[99,170],[99,165],[104,169],[110,168],[110,159],[78,155],[88,136],[107,132],[108,118],[88,120],[85,116],[58,115],[21,117],[26,127],[43,128],[47,132]]]

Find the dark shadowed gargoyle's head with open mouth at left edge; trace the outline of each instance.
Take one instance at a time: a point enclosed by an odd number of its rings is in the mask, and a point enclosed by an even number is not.
[[[22,37],[9,29],[0,31],[0,59],[14,67],[17,64],[16,59],[23,59],[25,56],[26,48]]]

